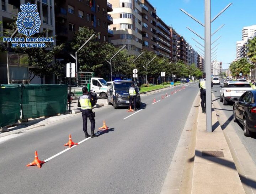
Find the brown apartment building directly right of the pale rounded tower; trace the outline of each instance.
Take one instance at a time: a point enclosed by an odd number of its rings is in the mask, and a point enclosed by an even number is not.
[[[154,53],[156,49],[156,34],[160,34],[156,27],[156,10],[148,0],[141,0],[142,4],[142,48]]]

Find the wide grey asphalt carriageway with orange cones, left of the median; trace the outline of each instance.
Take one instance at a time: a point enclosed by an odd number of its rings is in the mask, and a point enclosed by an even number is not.
[[[46,160],[66,149],[69,134],[74,142],[84,139],[81,114],[1,143],[0,193],[160,193],[198,82],[161,99],[177,89],[181,87],[142,96],[142,108],[134,115],[111,105],[96,109],[96,129],[103,120],[110,129],[41,169],[26,167],[35,150]],[[152,104],[154,98],[161,101]]]

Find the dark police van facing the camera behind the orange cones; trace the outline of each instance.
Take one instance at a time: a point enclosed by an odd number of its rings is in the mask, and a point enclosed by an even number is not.
[[[135,84],[139,90],[140,88],[134,81],[108,81],[107,82],[107,102],[113,104],[114,109],[118,107],[129,106],[129,87]],[[136,98],[136,108],[140,108],[140,94]]]

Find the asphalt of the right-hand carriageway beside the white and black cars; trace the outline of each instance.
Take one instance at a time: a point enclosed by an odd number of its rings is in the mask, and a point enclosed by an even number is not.
[[[224,82],[224,80],[220,81],[221,83]],[[229,103],[228,105],[223,105],[222,102],[219,100],[219,91],[220,91],[220,85],[214,85],[212,88],[212,96],[217,97],[217,102],[219,103],[220,107],[222,108],[222,111],[224,114],[229,118],[226,123],[230,123],[231,126],[235,129],[235,132],[239,136],[241,142],[244,144],[245,148],[251,155],[252,159],[256,163],[256,134],[253,134],[251,137],[245,137],[243,126],[242,124],[235,123],[233,121],[233,103]],[[225,129],[224,129],[225,130]]]

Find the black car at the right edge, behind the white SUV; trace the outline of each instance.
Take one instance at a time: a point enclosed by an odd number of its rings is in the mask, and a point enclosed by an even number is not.
[[[246,91],[233,105],[234,122],[244,125],[244,135],[256,132],[256,90]]]

